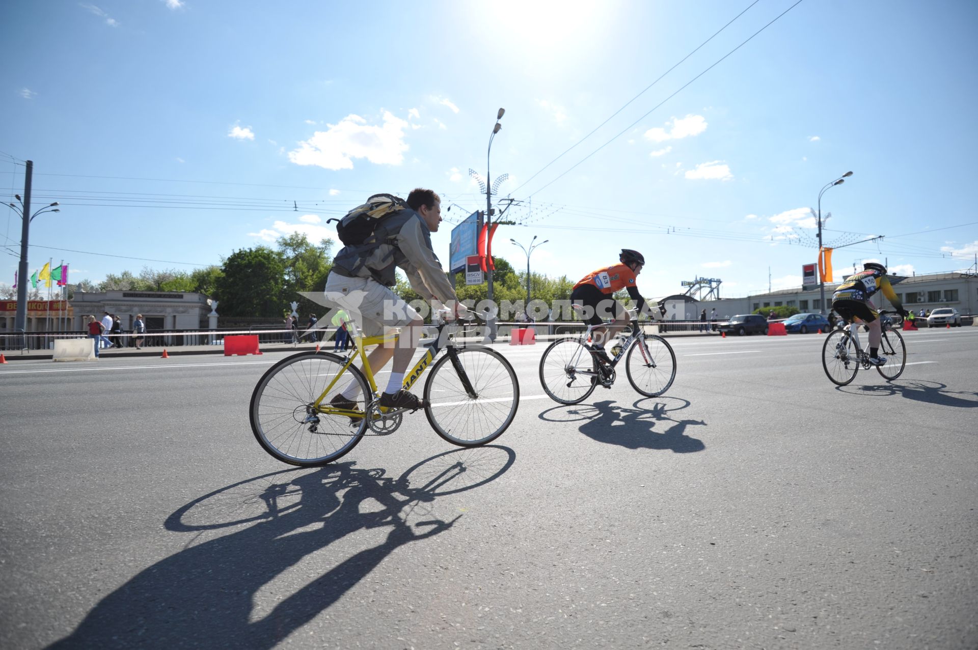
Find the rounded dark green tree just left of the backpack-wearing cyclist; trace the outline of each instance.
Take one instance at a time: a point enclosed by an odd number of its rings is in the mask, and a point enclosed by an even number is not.
[[[267,246],[242,248],[224,260],[216,279],[216,297],[222,316],[281,317],[289,297],[285,293],[286,265],[282,255]]]

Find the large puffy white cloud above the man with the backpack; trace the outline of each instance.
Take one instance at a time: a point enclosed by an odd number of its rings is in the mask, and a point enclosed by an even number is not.
[[[383,111],[383,124],[371,125],[360,115],[349,114],[326,131],[299,143],[289,152],[297,165],[317,165],[326,169],[353,169],[353,158],[367,158],[375,164],[399,165],[408,146],[404,129],[408,123],[393,113]]]

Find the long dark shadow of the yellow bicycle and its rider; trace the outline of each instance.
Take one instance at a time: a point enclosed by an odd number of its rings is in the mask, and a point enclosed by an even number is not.
[[[396,480],[384,477],[382,469],[343,462],[265,474],[194,499],[167,518],[167,530],[241,530],[156,562],[50,647],[271,648],[331,607],[397,548],[454,526],[462,515],[434,516],[429,506],[435,498],[495,480],[514,459],[506,447],[457,450],[427,458]],[[220,521],[199,523],[200,517]],[[347,557],[329,552],[333,542],[380,527],[390,528],[383,542],[346,551]],[[255,598],[311,553],[332,568],[309,582],[280,579],[280,592],[289,591],[282,586],[287,580],[301,585],[282,599]]]

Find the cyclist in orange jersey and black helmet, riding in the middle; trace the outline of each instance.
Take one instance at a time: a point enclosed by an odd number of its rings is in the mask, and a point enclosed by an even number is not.
[[[596,325],[591,330],[592,349],[605,363],[611,360],[604,352],[604,344],[614,338],[630,322],[628,310],[611,296],[619,289],[628,291],[629,297],[638,303],[639,314],[647,311],[645,298],[636,286],[636,277],[642,273],[645,257],[637,250],[622,248],[619,264],[589,273],[581,282],[574,284],[570,300],[581,310],[585,325]],[[603,318],[612,318],[611,325],[603,325]]]

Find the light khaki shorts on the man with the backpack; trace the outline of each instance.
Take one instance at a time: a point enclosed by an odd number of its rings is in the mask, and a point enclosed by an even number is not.
[[[364,336],[391,333],[394,327],[421,320],[414,307],[373,278],[347,278],[331,273],[323,295],[333,305],[346,310]]]

